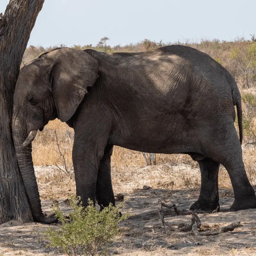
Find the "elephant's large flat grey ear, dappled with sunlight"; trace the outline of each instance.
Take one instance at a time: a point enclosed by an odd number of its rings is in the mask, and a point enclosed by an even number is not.
[[[61,48],[47,54],[53,58],[50,74],[52,94],[60,121],[66,122],[98,76],[98,61],[88,53],[72,48]]]

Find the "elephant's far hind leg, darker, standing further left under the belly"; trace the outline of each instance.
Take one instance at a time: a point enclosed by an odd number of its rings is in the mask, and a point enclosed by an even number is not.
[[[206,157],[198,161],[201,171],[201,189],[199,199],[190,206],[190,210],[220,211],[218,174],[220,164]]]

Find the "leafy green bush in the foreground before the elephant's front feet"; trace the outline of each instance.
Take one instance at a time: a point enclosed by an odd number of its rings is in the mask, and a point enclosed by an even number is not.
[[[118,223],[129,217],[129,213],[119,216],[124,209],[124,202],[114,207],[104,208],[101,212],[88,200],[89,206],[79,204],[80,198],[70,199],[72,212],[69,220],[60,211],[58,205],[54,209],[56,218],[62,222],[59,230],[49,228],[45,237],[50,240],[47,246],[61,248],[66,255],[107,255],[108,245],[118,233]]]

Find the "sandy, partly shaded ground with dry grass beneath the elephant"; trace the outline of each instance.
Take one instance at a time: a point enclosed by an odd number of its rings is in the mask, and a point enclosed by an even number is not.
[[[49,177],[54,173],[54,166],[36,167],[43,211],[51,213],[58,201],[60,208],[68,213],[71,209],[66,199],[75,193],[75,184],[68,180],[58,182],[57,178],[53,182]],[[164,233],[157,212],[157,200],[159,198],[167,204],[172,201],[179,210],[189,209],[199,195],[200,173],[197,166],[165,164],[128,168],[125,172],[113,170],[112,176],[115,195],[124,195],[126,210],[131,208],[133,216],[121,223],[119,236],[110,249],[111,255],[256,255],[256,209],[228,212],[234,200],[229,185],[220,189],[220,212],[198,214],[202,221],[201,230],[219,230],[233,221],[240,221],[243,227],[217,236],[171,232],[168,227],[165,227]],[[144,190],[144,185],[152,188]],[[176,216],[173,210],[167,208],[164,214],[168,223],[178,225],[191,221],[190,215]],[[55,225],[20,224],[14,220],[0,225],[0,255],[63,255],[46,248],[47,239],[42,238],[44,230]]]

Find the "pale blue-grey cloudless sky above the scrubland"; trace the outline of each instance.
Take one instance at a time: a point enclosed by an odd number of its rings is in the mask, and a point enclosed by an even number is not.
[[[8,3],[0,0],[0,13]],[[28,46],[251,39],[255,10],[255,0],[45,0]]]

